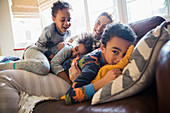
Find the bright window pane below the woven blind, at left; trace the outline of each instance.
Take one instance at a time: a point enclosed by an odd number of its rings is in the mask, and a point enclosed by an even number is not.
[[[15,48],[34,44],[41,32],[39,18],[13,18]]]

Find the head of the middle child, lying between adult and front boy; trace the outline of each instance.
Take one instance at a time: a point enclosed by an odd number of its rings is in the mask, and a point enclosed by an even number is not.
[[[72,49],[72,58],[81,56],[92,51],[94,35],[90,33],[82,33],[76,40],[77,46]]]

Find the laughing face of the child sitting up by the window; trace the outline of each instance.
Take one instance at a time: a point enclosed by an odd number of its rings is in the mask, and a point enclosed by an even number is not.
[[[64,34],[67,29],[71,26],[71,17],[70,17],[70,10],[69,9],[62,9],[59,10],[55,17],[52,17],[54,23],[56,24],[57,30]]]

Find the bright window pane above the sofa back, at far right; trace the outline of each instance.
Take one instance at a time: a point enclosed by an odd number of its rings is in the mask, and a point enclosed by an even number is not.
[[[128,22],[146,17],[167,16],[167,0],[126,0]]]

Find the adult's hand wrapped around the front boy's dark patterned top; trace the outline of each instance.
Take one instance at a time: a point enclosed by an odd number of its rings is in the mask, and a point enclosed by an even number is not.
[[[73,82],[81,73],[80,69],[77,66],[77,62],[74,62],[71,64],[71,67],[69,69],[69,77],[70,80]]]

